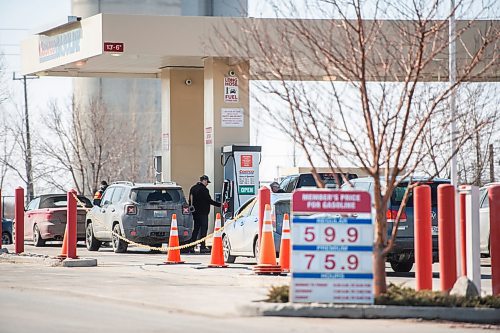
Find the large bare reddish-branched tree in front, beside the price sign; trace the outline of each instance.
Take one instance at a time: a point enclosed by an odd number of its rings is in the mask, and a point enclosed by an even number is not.
[[[386,210],[393,190],[402,179],[427,169],[426,157],[432,151],[443,152],[444,161],[434,174],[457,153],[448,148],[449,123],[468,115],[458,112],[451,119],[446,101],[460,83],[479,79],[491,66],[498,66],[498,24],[459,22],[456,38],[464,57],[459,61],[457,83],[450,85],[440,82],[448,77],[443,59],[447,61],[449,45],[448,16],[438,19],[440,2],[312,3],[296,8],[291,2],[287,10],[314,11],[314,17],[323,20],[274,20],[272,25],[228,21],[225,27],[214,28],[224,33],[211,44],[226,47],[234,57],[253,57],[250,75],[270,80],[258,84],[259,96],[264,96],[257,97],[259,106],[302,148],[319,185],[317,156],[332,169],[357,165],[373,177],[374,291],[378,295],[386,290],[385,259],[398,226],[396,222],[388,236]],[[389,17],[398,20],[386,20]],[[269,103],[269,96],[281,105]],[[457,146],[490,122],[480,119],[464,128],[457,135]],[[403,209],[404,205],[397,221]]]

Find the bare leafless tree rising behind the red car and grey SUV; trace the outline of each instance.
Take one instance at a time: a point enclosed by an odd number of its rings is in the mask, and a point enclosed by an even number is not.
[[[114,126],[106,107],[97,99],[85,106],[48,106],[43,121],[48,135],[41,140],[41,150],[48,158],[44,167],[51,170],[44,180],[60,190],[68,189],[68,178],[79,193],[96,191],[108,163]]]

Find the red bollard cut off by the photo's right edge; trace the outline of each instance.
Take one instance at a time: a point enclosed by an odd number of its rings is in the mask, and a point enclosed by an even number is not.
[[[500,295],[500,186],[488,190],[490,200],[490,254],[493,295]],[[497,240],[493,242],[492,240]]]

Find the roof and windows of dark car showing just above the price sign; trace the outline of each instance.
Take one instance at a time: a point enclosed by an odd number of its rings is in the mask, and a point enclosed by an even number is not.
[[[328,188],[340,188],[344,183],[344,178],[349,180],[358,178],[358,175],[355,173],[344,173],[344,177],[342,177],[342,173],[340,172],[320,172],[318,175],[325,184],[325,187]],[[337,180],[340,184],[337,184]],[[287,176],[280,183],[280,188],[286,193],[292,193],[294,190],[301,187],[317,187],[312,173]]]

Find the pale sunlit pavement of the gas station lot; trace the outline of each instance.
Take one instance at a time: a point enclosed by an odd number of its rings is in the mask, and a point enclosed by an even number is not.
[[[6,246],[13,252],[13,246]],[[60,243],[34,248],[26,253],[56,256]],[[271,285],[289,283],[288,276],[257,276],[253,258],[238,258],[225,269],[206,268],[209,255],[182,255],[182,265],[163,265],[164,253],[130,248],[113,253],[104,247],[88,252],[78,246],[79,257],[98,260],[98,267],[49,267],[40,260],[32,263],[0,262],[0,312],[2,332],[140,332],[206,331],[221,332],[318,332],[364,331],[363,320],[252,318],[240,308],[263,300]],[[483,290],[491,293],[489,259],[482,259]],[[434,265],[437,273],[439,267]],[[414,273],[394,273],[388,280],[414,286]],[[434,287],[439,287],[437,274]],[[372,332],[417,332],[422,329],[446,331],[457,328],[482,330],[484,326],[414,321],[370,320]],[[437,325],[437,326],[436,326]],[[43,328],[40,330],[40,328]]]

